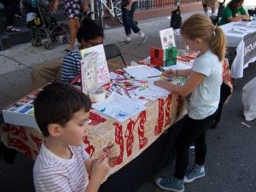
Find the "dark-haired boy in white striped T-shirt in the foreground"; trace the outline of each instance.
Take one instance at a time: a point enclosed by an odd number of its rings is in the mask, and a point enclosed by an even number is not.
[[[45,140],[33,167],[36,191],[99,189],[108,173],[108,160],[117,157],[119,149],[108,143],[102,157],[94,160],[85,152],[90,106],[88,96],[67,84],[49,84],[38,94],[35,118]]]

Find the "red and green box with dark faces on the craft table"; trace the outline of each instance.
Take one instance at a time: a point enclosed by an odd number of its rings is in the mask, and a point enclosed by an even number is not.
[[[150,63],[159,67],[167,67],[176,65],[177,49],[176,47],[168,47],[160,49],[156,47],[150,48]]]

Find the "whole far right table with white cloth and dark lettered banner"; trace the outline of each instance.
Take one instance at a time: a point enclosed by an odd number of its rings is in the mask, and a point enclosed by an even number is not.
[[[227,38],[227,47],[236,49],[231,65],[232,78],[243,77],[243,69],[256,60],[256,20],[230,22],[220,26]]]

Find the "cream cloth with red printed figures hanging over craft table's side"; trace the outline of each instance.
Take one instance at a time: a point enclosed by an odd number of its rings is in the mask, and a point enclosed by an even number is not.
[[[89,134],[84,137],[88,154],[91,157],[101,155],[102,149],[110,141],[117,143],[120,148],[119,157],[114,161],[108,175],[136,158],[186,113],[183,98],[176,94],[149,101],[146,107],[146,110],[123,123],[102,113],[90,111]],[[14,148],[35,159],[44,137],[38,128],[3,124],[1,139],[8,148]]]

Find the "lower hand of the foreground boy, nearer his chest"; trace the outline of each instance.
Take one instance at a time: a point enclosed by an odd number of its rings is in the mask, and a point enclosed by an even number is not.
[[[108,157],[99,157],[92,160],[90,169],[90,182],[102,184],[109,170]]]

